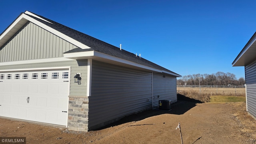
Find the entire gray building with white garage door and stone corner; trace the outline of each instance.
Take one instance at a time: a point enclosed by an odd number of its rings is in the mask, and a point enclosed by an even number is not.
[[[34,14],[0,35],[0,116],[88,131],[177,101],[179,74]]]

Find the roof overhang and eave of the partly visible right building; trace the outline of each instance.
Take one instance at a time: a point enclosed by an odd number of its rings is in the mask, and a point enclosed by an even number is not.
[[[232,66],[246,66],[253,60],[256,60],[256,32],[238,54]]]

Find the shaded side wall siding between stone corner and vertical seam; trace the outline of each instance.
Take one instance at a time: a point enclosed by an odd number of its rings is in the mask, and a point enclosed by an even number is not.
[[[152,108],[152,73],[93,60],[91,92],[89,130]]]

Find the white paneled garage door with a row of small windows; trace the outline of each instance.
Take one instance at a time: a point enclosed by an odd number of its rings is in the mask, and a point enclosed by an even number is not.
[[[0,72],[0,116],[67,126],[69,70]]]

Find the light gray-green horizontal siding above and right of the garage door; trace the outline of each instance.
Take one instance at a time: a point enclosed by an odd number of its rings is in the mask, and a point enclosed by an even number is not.
[[[79,66],[78,66],[79,64]],[[51,68],[71,66],[70,74],[70,95],[72,96],[86,96],[87,90],[87,60],[72,60],[62,62],[46,62],[46,63],[34,63],[34,64],[18,64],[10,66],[0,66],[0,70],[13,70],[13,69],[26,69],[26,68]],[[74,83],[74,76],[76,73],[81,73],[82,84],[78,85]]]

